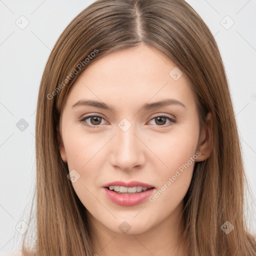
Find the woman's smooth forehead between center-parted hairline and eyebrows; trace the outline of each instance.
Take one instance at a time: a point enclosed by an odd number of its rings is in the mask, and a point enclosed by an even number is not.
[[[68,104],[82,97],[126,106],[166,98],[194,101],[185,73],[159,50],[145,45],[115,50],[88,65],[72,85]]]

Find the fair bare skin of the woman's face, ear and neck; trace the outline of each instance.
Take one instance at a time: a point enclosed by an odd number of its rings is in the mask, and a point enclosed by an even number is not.
[[[185,241],[178,236],[178,227],[184,227],[183,198],[195,161],[211,153],[211,115],[199,132],[192,85],[184,73],[173,79],[169,72],[174,67],[157,49],[143,44],[117,50],[89,65],[66,98],[59,149],[69,171],[80,175],[72,185],[87,210],[95,255],[185,255]],[[141,109],[170,98],[181,104]],[[113,109],[73,106],[78,100],[104,102]],[[80,121],[89,115],[98,119]],[[131,125],[126,131],[118,126],[123,118]],[[166,185],[185,163],[189,166]],[[152,184],[152,195],[164,184],[165,190],[151,201],[121,206],[102,188],[116,180]],[[119,228],[124,221],[130,227],[126,233]]]

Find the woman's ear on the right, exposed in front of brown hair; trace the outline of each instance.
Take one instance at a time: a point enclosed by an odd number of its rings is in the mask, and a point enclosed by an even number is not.
[[[201,154],[195,160],[196,162],[203,161],[210,156],[213,146],[212,139],[212,114],[208,112],[198,139],[197,150],[200,151]]]

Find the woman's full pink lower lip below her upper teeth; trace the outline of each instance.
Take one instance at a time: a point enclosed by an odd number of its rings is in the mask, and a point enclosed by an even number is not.
[[[152,192],[153,188],[150,188],[146,191],[137,192],[134,194],[118,194],[116,192],[113,192],[113,190],[109,190],[106,187],[103,187],[106,196],[114,203],[121,205],[121,206],[133,206],[141,203],[146,198],[148,198]]]

